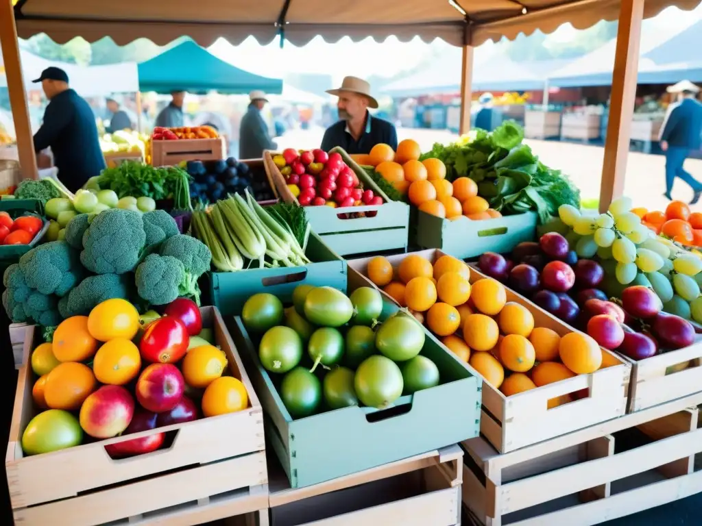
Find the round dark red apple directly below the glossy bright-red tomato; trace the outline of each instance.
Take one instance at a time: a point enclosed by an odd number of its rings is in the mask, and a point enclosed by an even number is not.
[[[171,363],[152,363],[136,381],[136,399],[154,413],[170,411],[178,405],[185,391],[185,379]]]

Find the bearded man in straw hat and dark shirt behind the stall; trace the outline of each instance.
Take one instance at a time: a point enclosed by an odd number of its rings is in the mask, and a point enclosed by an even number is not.
[[[339,100],[339,121],[324,132],[322,149],[329,151],[340,146],[348,154],[368,154],[376,144],[389,144],[397,149],[397,130],[388,121],[372,116],[369,108],[377,108],[378,101],[371,95],[371,85],[355,76],[344,77],[341,87],[326,93]]]

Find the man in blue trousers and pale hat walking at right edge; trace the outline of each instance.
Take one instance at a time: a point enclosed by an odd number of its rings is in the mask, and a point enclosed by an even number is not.
[[[690,81],[680,81],[675,86],[668,87],[668,93],[676,93],[678,101],[670,104],[661,126],[661,149],[665,151],[665,194],[672,200],[670,191],[673,189],[675,177],[680,177],[692,187],[694,194],[691,205],[699,201],[702,194],[702,182],[695,180],[687,173],[683,164],[690,150],[698,150],[702,146],[702,104],[695,95],[699,88]]]

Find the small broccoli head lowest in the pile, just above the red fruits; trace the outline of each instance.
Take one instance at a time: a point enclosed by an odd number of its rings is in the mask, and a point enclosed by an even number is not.
[[[172,256],[150,254],[136,267],[135,281],[139,296],[152,305],[165,305],[180,296],[187,279],[185,267]]]

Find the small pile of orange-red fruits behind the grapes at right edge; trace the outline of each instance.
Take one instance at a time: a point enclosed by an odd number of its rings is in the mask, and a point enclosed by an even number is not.
[[[671,201],[665,213],[658,210],[649,212],[646,208],[633,208],[631,211],[656,234],[663,234],[682,245],[702,247],[702,212],[692,212],[687,203]]]

